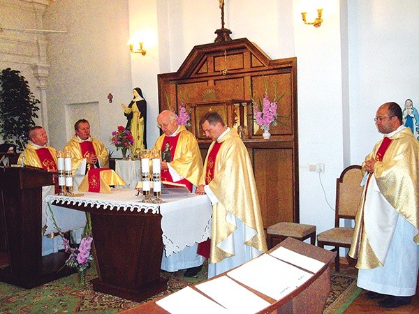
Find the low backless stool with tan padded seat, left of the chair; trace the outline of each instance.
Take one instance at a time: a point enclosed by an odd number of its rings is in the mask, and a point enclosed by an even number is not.
[[[279,244],[279,242],[291,237],[300,241],[309,239],[312,245],[316,244],[316,226],[304,225],[302,223],[276,223],[267,227],[267,248],[268,250]]]

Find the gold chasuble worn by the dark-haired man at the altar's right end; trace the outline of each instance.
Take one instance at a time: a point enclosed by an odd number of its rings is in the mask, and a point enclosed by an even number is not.
[[[260,252],[267,251],[265,232],[258,200],[258,191],[253,177],[249,153],[237,132],[232,128],[219,140],[221,147],[216,154],[213,178],[208,184],[219,200],[212,206],[212,230],[210,263],[233,256],[218,245],[232,234],[236,227],[226,221],[228,211],[257,233],[245,244]],[[212,142],[205,158],[204,169],[211,169],[209,156],[214,147]],[[210,166],[210,167],[209,167]],[[205,184],[205,173],[200,184]]]

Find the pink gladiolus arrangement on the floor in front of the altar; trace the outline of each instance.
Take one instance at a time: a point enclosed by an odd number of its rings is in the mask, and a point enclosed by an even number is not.
[[[54,218],[50,204],[48,204],[48,208],[50,209],[52,223],[54,224],[55,229],[57,229],[61,239],[63,240],[64,251],[69,254],[65,264],[68,268],[77,269],[80,276],[80,285],[84,285],[86,271],[90,267],[91,262],[93,262],[93,255],[91,253],[91,242],[93,241],[93,238],[91,237],[90,213],[86,214],[86,225],[84,226],[82,232],[82,239],[80,240],[80,244],[77,246],[75,239],[66,239],[64,233],[57,225],[57,221]]]

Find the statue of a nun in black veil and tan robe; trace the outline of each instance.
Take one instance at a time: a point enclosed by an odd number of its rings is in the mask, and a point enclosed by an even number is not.
[[[141,89],[135,87],[131,103],[128,107],[123,103],[121,107],[128,120],[126,128],[131,130],[135,141],[131,147],[131,155],[138,156],[141,149],[147,149],[147,102],[142,96]]]

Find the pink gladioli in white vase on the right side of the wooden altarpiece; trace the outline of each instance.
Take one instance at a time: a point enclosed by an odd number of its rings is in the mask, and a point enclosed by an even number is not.
[[[253,105],[253,119],[256,121],[256,124],[260,126],[265,132],[263,137],[269,138],[270,126],[276,126],[278,124],[278,118],[281,117],[277,113],[277,106],[279,100],[284,97],[285,93],[281,96],[278,96],[277,86],[275,85],[274,98],[270,101],[267,91],[267,84],[265,82],[265,94],[263,100],[254,100],[253,94],[251,94],[251,102]]]

